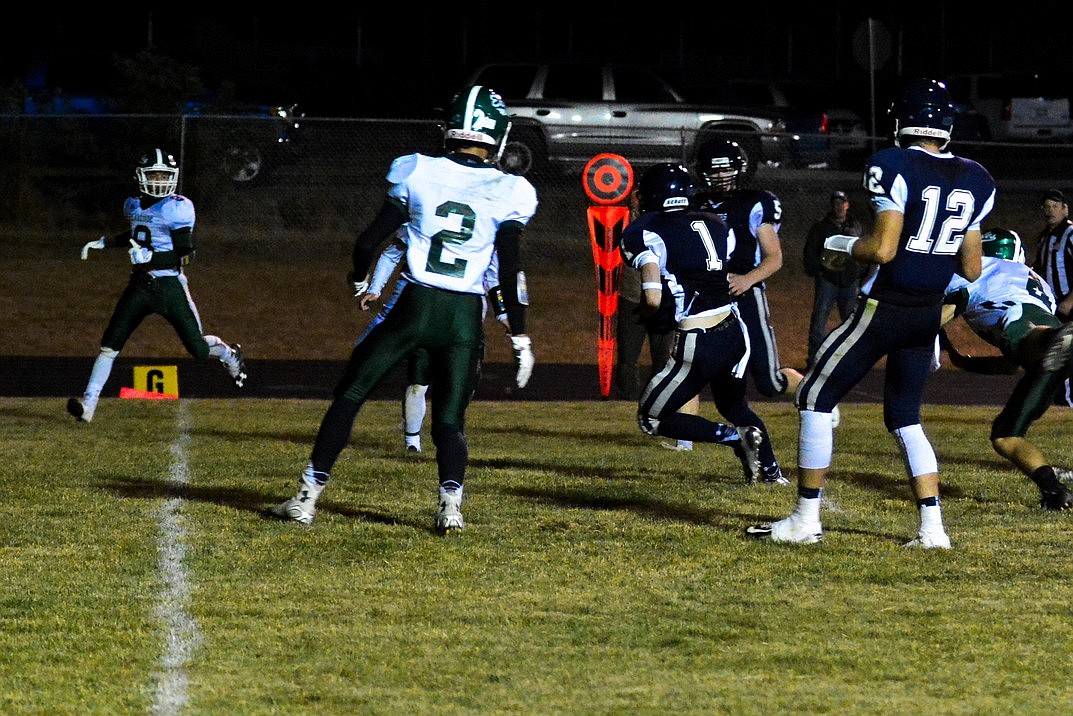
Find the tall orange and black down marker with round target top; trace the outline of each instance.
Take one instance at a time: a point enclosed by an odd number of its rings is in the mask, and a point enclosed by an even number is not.
[[[624,203],[633,191],[633,167],[624,157],[597,155],[582,172],[585,194],[598,206],[588,208],[592,260],[597,268],[597,308],[600,332],[597,335],[597,365],[600,369],[600,394],[611,395],[615,365],[615,313],[618,312],[618,286],[622,276],[622,255],[618,251],[622,230],[630,222],[630,207]]]

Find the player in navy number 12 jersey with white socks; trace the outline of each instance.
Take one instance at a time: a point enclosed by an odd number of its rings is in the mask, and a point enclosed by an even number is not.
[[[955,272],[970,281],[981,273],[980,223],[995,204],[995,180],[979,163],[945,150],[954,105],[942,83],[911,82],[891,115],[896,146],[872,155],[865,166],[864,186],[876,211],[871,235],[824,240],[826,265],[852,259],[872,267],[856,310],[824,339],[797,389],[797,506],[785,520],[749,527],[752,537],[822,539],[820,503],[834,451],[831,412],[885,357],[883,422],[900,450],[921,518],[906,546],[950,547],[939,466],[921,425],[921,404],[946,284]]]

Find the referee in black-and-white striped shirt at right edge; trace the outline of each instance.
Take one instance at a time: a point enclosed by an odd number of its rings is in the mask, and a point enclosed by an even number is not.
[[[1070,221],[1065,194],[1058,189],[1043,192],[1040,213],[1043,229],[1037,235],[1032,268],[1050,287],[1058,303],[1055,316],[1064,322],[1073,313],[1073,221]],[[1055,396],[1055,405],[1073,406],[1073,390],[1069,380]]]

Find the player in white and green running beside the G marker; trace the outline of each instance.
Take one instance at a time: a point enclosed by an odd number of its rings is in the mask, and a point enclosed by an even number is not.
[[[86,391],[82,398],[68,400],[68,412],[84,423],[93,420],[119,351],[142,321],[153,313],[172,324],[191,355],[199,361],[210,355],[218,359],[237,388],[246,384],[242,347],[203,334],[201,316],[190,295],[183,267],[194,254],[194,204],[176,193],[178,163],[163,149],[150,149],[138,159],[134,175],[139,194],[123,203],[130,230],[111,240],[101,236],[82,249],[85,260],[90,249],[126,248],[132,264],[130,281],[101,338],[101,352],[93,362]]]

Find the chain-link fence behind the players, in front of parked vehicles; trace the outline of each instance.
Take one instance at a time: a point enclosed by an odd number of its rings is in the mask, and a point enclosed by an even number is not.
[[[2,121],[0,190],[6,201],[0,203],[0,227],[23,234],[111,231],[123,198],[135,190],[137,156],[161,146],[180,161],[180,191],[194,200],[200,234],[266,249],[285,246],[299,255],[323,242],[351,242],[383,201],[391,160],[440,146],[432,120],[123,115]],[[1017,214],[1024,205],[1018,191],[1061,186],[1060,157],[1069,154],[1067,145],[991,151],[993,161],[1001,159],[1008,174],[1017,175],[1008,184],[1009,209]],[[850,192],[854,208],[867,214],[856,170],[864,159],[842,158],[839,167],[759,169],[754,186],[775,191],[782,202],[784,242],[793,246],[804,236],[834,189]],[[1047,171],[1043,163],[1050,164],[1050,178],[1032,178],[1033,165]],[[1004,176],[993,173],[1001,187]],[[527,260],[586,257],[588,203],[576,167],[552,166],[530,178],[541,204],[526,234]],[[1015,222],[1023,233],[1035,227],[1034,205],[1025,208],[1030,219]]]

